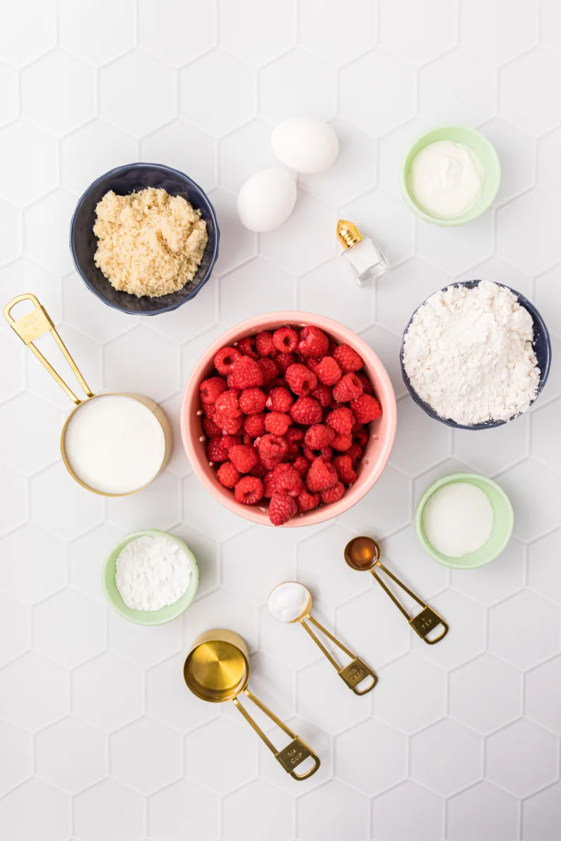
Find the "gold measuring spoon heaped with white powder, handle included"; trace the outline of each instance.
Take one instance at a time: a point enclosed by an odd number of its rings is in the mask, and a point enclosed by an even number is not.
[[[269,595],[268,608],[272,616],[281,622],[299,622],[304,630],[310,634],[315,644],[325,654],[331,665],[336,669],[339,677],[345,681],[349,689],[355,695],[366,695],[367,692],[373,690],[378,683],[378,677],[373,670],[363,663],[363,660],[358,659],[356,654],[349,651],[347,646],[343,645],[336,637],[333,636],[327,628],[320,625],[317,619],[310,615],[312,609],[312,595],[304,584],[299,584],[298,581],[284,581],[283,584],[278,584]],[[310,628],[308,622],[315,625],[325,637],[331,639],[331,643],[335,643],[337,648],[347,654],[351,658],[351,663],[346,666],[340,666],[336,659],[331,656],[331,653],[325,648],[325,645],[316,637],[315,633]],[[363,680],[372,678],[366,687],[360,690],[358,687],[363,683]]]

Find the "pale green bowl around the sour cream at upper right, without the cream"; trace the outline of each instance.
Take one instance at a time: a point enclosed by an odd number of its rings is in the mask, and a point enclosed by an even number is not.
[[[451,140],[453,143],[467,146],[479,158],[484,171],[483,190],[475,204],[465,213],[460,216],[453,216],[451,219],[442,219],[426,213],[426,210],[422,209],[416,203],[415,196],[410,189],[410,169],[415,156],[421,150],[425,149],[426,146],[436,143],[437,140]],[[411,146],[400,172],[400,183],[405,204],[408,204],[413,213],[417,214],[425,222],[429,222],[431,225],[440,225],[441,227],[464,225],[466,222],[471,222],[481,214],[484,214],[485,210],[492,204],[500,187],[499,156],[496,153],[495,146],[480,131],[459,125],[443,126],[440,129],[433,129],[427,132],[426,135],[422,135]]]

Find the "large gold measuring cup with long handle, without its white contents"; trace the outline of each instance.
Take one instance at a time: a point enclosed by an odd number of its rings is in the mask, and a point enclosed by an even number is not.
[[[30,309],[26,315],[16,320],[13,318],[12,309],[16,304],[19,304],[21,301],[30,301],[34,306],[34,309]],[[76,408],[71,410],[71,413],[66,418],[66,421],[61,431],[62,460],[65,463],[66,470],[68,471],[68,473],[71,474],[72,479],[76,479],[77,483],[82,485],[82,488],[91,490],[93,494],[99,494],[101,496],[129,496],[130,494],[135,494],[138,490],[142,490],[142,488],[146,488],[148,484],[150,484],[154,479],[156,479],[156,476],[158,476],[161,473],[163,468],[165,468],[170,456],[172,455],[172,427],[170,426],[170,422],[167,420],[166,413],[163,409],[161,409],[161,406],[159,406],[154,400],[151,400],[149,397],[145,397],[143,394],[129,394],[127,392],[93,394],[86,380],[82,377],[82,373],[80,373],[80,371],[78,370],[76,362],[74,362],[70,353],[68,352],[68,349],[62,341],[61,336],[59,336],[56,332],[55,325],[50,320],[49,316],[46,313],[46,310],[39,303],[39,300],[35,298],[33,294],[30,294],[28,292],[23,295],[18,295],[16,298],[13,298],[11,301],[9,301],[8,304],[6,304],[6,306],[4,307],[4,318],[8,321],[8,324],[12,327],[12,330],[15,333],[17,333],[19,338],[29,347],[29,350],[32,353],[34,353],[34,356],[39,359],[41,365],[43,365],[47,369],[47,371],[50,373],[50,376],[56,381],[56,383],[58,383],[61,386],[61,389],[68,395],[68,397],[70,397],[72,403],[76,404]],[[74,394],[70,387],[61,378],[61,375],[58,372],[56,372],[55,368],[52,367],[50,362],[48,362],[45,359],[40,350],[34,346],[34,341],[47,332],[50,332],[50,334],[55,339],[56,344],[60,347],[61,352],[63,353],[66,362],[68,362],[72,373],[74,373],[78,383],[80,383],[83,389],[84,394],[86,394],[85,399],[80,399],[79,397],[77,397],[76,394]],[[80,479],[80,477],[77,476],[76,473],[74,473],[73,469],[71,468],[71,464],[68,461],[68,458],[66,458],[65,435],[68,422],[70,421],[72,415],[74,415],[81,408],[81,406],[86,405],[86,403],[89,403],[91,400],[96,399],[97,397],[105,397],[108,394],[119,397],[130,397],[131,399],[137,400],[142,405],[145,405],[146,408],[150,409],[151,413],[155,415],[156,420],[159,422],[161,426],[161,431],[164,435],[164,454],[157,472],[154,474],[154,476],[152,476],[150,482],[147,482],[141,488],[135,488],[134,490],[126,491],[123,494],[108,494],[102,490],[90,487],[88,484],[83,482],[82,479]]]

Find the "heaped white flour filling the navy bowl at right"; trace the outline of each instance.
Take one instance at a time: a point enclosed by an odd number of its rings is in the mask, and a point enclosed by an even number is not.
[[[532,316],[510,289],[482,281],[436,292],[405,336],[405,373],[415,392],[462,426],[508,421],[536,396]]]

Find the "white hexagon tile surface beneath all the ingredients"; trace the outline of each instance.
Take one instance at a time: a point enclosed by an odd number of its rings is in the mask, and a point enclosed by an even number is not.
[[[61,463],[66,397],[0,325],[0,834],[9,841],[558,841],[561,837],[561,4],[558,0],[19,0],[0,9],[0,289],[34,292],[94,391],[150,394],[175,421],[150,489],[103,500]],[[341,154],[299,178],[278,230],[241,227],[236,193],[275,159],[274,124],[329,121]],[[462,228],[415,218],[405,151],[427,126],[479,127],[503,179]],[[222,233],[213,277],[169,315],[121,314],[72,270],[77,198],[120,163],[158,161],[208,191]],[[336,220],[383,246],[358,288]],[[531,410],[477,433],[406,393],[400,337],[454,278],[507,283],[548,323],[553,368]],[[273,309],[341,320],[378,352],[398,397],[389,465],[337,521],[252,526],[214,502],[178,431],[194,362],[226,327]],[[458,469],[494,477],[514,537],[488,567],[449,571],[415,537],[415,501]],[[135,626],[104,599],[103,558],[136,528],[193,548],[193,606]],[[371,576],[342,561],[356,534],[442,615],[414,638]],[[349,693],[267,594],[297,576],[318,614],[379,674]],[[231,705],[190,696],[189,643],[231,627],[264,701],[317,749],[294,783]]]

